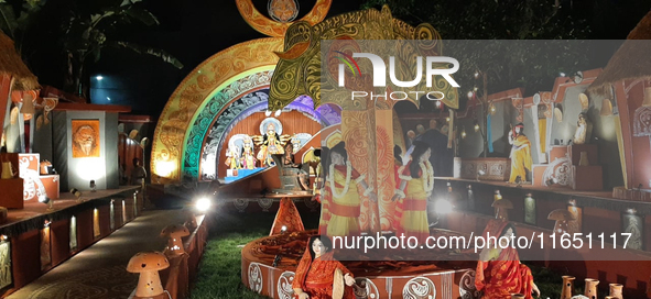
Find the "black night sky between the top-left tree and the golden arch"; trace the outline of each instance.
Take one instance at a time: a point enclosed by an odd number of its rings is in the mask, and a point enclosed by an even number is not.
[[[155,119],[174,89],[197,65],[235,44],[268,37],[245,22],[234,0],[145,2],[161,24],[134,32],[129,38],[170,52],[184,67],[176,69],[156,57],[129,51],[102,52],[102,58],[91,70],[91,87],[100,88],[91,90],[94,103],[129,104],[134,114],[149,114]],[[335,0],[328,16],[358,10],[361,2]],[[267,0],[253,3],[260,12],[267,12]],[[300,1],[297,19],[311,10],[314,3],[314,0]],[[97,75],[104,77],[99,82],[94,79]],[[111,100],[108,101],[107,97]]]

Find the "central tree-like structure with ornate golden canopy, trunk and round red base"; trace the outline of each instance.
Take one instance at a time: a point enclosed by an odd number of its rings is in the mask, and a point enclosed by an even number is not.
[[[335,40],[339,43],[325,45],[324,40]],[[326,126],[321,131],[322,162],[328,158],[334,159],[333,156],[328,156],[329,153],[337,151],[336,147],[345,144],[347,159],[350,163],[347,167],[360,175],[355,177],[356,184],[348,181],[348,179],[336,184],[343,186],[343,188],[341,188],[344,193],[356,191],[359,193],[354,196],[356,200],[337,203],[336,200],[333,200],[333,197],[336,197],[335,191],[332,191],[333,195],[328,195],[328,191],[324,191],[328,190],[327,187],[322,189],[321,231],[302,230],[302,224],[296,225],[301,220],[297,219],[293,201],[289,198],[281,200],[273,226],[282,225],[284,230],[280,232],[272,230],[270,236],[256,240],[242,250],[242,281],[261,295],[272,298],[293,298],[297,295],[294,292],[296,285],[293,283],[305,278],[306,274],[301,270],[301,263],[305,258],[302,256],[304,256],[305,248],[308,247],[308,239],[318,234],[334,236],[328,229],[324,229],[328,226],[327,223],[324,225],[324,221],[328,221],[325,218],[334,221],[334,215],[330,218],[330,213],[341,213],[341,209],[347,209],[352,215],[351,221],[359,225],[357,233],[361,235],[377,233],[391,236],[401,225],[397,217],[397,202],[392,200],[397,186],[394,147],[400,147],[403,153],[408,148],[405,148],[402,129],[393,110],[394,101],[375,101],[369,98],[350,99],[346,92],[350,95],[350,90],[357,89],[406,93],[408,89],[399,87],[389,87],[384,90],[373,89],[370,85],[371,66],[360,59],[357,62],[359,63],[357,66],[358,76],[348,77],[345,84],[347,90],[337,90],[335,73],[340,59],[334,54],[326,55],[327,60],[323,62],[323,56],[321,56],[324,46],[327,48],[327,53],[343,55],[345,55],[344,53],[364,52],[364,44],[357,42],[362,40],[428,41],[423,43],[427,45],[425,48],[402,52],[403,62],[409,62],[411,56],[442,54],[438,34],[432,26],[427,24],[419,27],[406,25],[402,21],[393,19],[387,8],[382,11],[371,9],[350,12],[326,19],[316,25],[295,23],[287,29],[284,51],[278,54],[281,59],[271,80],[269,109],[273,111],[291,106],[294,99],[301,96],[310,96],[317,109],[332,104],[340,107],[340,123]],[[392,49],[388,48],[387,51]],[[406,63],[403,67],[406,68],[405,65]],[[403,70],[405,70],[404,73],[413,71],[413,69]],[[350,71],[355,70],[350,69]],[[427,90],[424,85],[423,82],[415,88]],[[443,80],[436,81],[435,86],[437,90],[445,93],[443,103],[448,108],[458,108],[456,89]],[[420,103],[420,98],[412,97],[406,100],[412,101],[415,106]],[[334,171],[333,169],[330,168],[329,171]],[[329,190],[333,190],[332,188],[335,187],[330,187]],[[356,201],[358,204],[346,206]],[[423,213],[426,211],[423,210]],[[328,215],[324,218],[325,214]],[[425,226],[427,224],[425,223]],[[435,237],[460,236],[459,233],[452,231],[431,230],[430,228],[425,230],[427,235]],[[351,232],[351,234],[356,233]],[[411,261],[399,261],[395,256],[369,258],[364,254],[349,254],[341,259],[341,263],[355,276],[356,284],[352,289],[356,298],[479,297],[479,292],[475,288],[477,256],[474,253],[451,253],[446,250],[431,251],[425,254],[426,256],[406,253],[406,255],[411,255],[409,258]],[[456,255],[457,261],[451,261],[453,255]],[[338,256],[341,257],[341,255]],[[327,277],[329,274],[315,275]],[[327,278],[324,281],[326,280]]]

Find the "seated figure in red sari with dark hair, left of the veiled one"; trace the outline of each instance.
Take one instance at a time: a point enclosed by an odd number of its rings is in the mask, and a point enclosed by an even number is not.
[[[355,279],[341,263],[334,259],[330,248],[330,241],[325,235],[310,239],[292,283],[294,298],[355,299],[351,287]]]

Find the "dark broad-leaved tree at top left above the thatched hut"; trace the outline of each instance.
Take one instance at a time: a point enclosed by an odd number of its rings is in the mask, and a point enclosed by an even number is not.
[[[139,3],[142,0],[0,0],[0,29],[14,40],[19,52],[57,52],[65,59],[63,89],[87,96],[88,67],[101,58],[106,47],[151,55],[183,68],[170,53],[124,40],[137,26],[154,26],[159,20]],[[40,22],[41,21],[41,22]],[[47,25],[43,25],[43,24]],[[56,24],[56,26],[52,26]],[[45,44],[44,34],[57,36]],[[29,40],[29,41],[28,41]],[[23,52],[30,64],[30,55]],[[39,62],[53,65],[53,62]]]

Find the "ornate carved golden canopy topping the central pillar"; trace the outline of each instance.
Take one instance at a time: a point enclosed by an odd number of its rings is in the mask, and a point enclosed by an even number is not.
[[[322,46],[337,42],[338,46],[343,44],[348,46],[350,52],[356,52],[356,46],[364,41],[419,41],[420,47],[403,47],[401,55],[405,60],[413,59],[416,56],[440,56],[442,54],[441,35],[432,25],[422,23],[417,26],[411,26],[405,22],[392,16],[389,7],[384,5],[381,11],[368,9],[362,11],[347,12],[323,22],[312,25],[306,22],[295,22],[287,27],[284,41],[284,52],[279,53],[280,62],[276,66],[274,76],[271,80],[269,93],[269,106],[271,110],[281,109],[287,106],[299,96],[310,96],[314,100],[314,107],[322,103],[322,96],[333,92],[333,84],[324,86],[325,82],[334,81],[330,69],[330,60],[338,64],[337,59],[327,57],[327,69],[322,69]],[[400,42],[402,43],[402,42]],[[389,48],[375,47],[380,52],[390,51]],[[337,49],[341,49],[337,47]],[[341,49],[345,51],[345,49]],[[330,52],[328,52],[330,53]],[[366,60],[365,60],[366,62]],[[365,65],[360,63],[360,78],[352,81],[352,90],[370,90],[370,71],[365,71]],[[328,76],[329,75],[329,76]],[[458,93],[443,78],[435,79],[433,84],[445,93],[443,103],[449,108],[458,108]],[[415,90],[424,89],[424,82],[420,82]],[[410,89],[397,88],[393,91],[410,91]],[[328,95],[330,95],[328,93]],[[349,92],[347,95],[350,95]],[[368,101],[366,100],[344,100],[343,95],[333,95],[323,102],[333,102],[345,110],[366,110]],[[411,99],[416,106],[419,99]],[[386,107],[390,109],[392,101]]]

